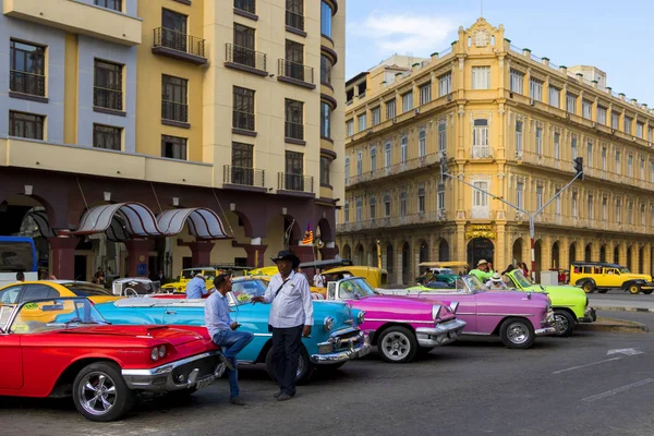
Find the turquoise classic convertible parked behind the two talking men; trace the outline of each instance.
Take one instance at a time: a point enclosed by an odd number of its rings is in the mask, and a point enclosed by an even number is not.
[[[265,363],[274,377],[270,352],[271,334],[268,332],[269,304],[252,304],[253,296],[263,295],[267,283],[257,278],[234,279],[228,294],[233,320],[241,330],[254,334],[254,340],[241,351],[242,364]],[[204,326],[206,300],[185,300],[183,295],[155,294],[145,298],[122,299],[97,304],[98,310],[112,324],[165,324]],[[352,310],[341,302],[314,301],[314,326],[311,337],[302,338],[298,383],[305,382],[316,367],[336,370],[349,360],[370,352],[370,339],[359,329],[363,312]]]

